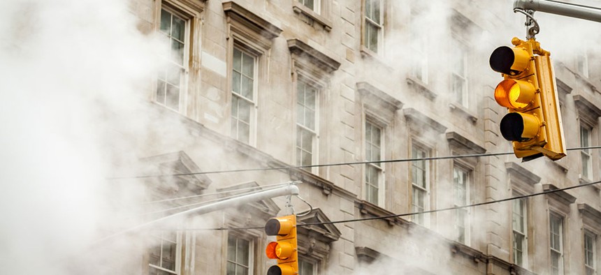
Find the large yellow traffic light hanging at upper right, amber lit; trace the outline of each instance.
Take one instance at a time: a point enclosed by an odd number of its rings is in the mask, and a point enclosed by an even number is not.
[[[565,142],[550,53],[534,39],[513,38],[512,44],[495,49],[490,59],[505,78],[495,88],[495,101],[509,111],[500,121],[501,135],[524,161],[556,161],[565,156]]]

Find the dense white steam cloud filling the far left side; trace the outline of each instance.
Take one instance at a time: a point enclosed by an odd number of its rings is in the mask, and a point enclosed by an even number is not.
[[[156,43],[120,0],[2,1],[0,18],[0,266],[66,274],[112,215],[129,156],[108,153],[125,147],[108,118],[147,96]]]

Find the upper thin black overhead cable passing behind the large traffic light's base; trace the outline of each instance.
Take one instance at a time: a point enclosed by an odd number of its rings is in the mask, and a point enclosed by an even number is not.
[[[601,146],[569,148],[569,149],[567,149],[567,151],[583,150],[583,149],[601,149]],[[208,171],[208,172],[189,172],[189,173],[178,173],[178,174],[149,174],[149,175],[129,176],[129,177],[108,177],[107,179],[145,179],[145,178],[153,178],[153,177],[193,176],[196,174],[224,174],[224,173],[234,173],[234,172],[291,170],[291,169],[319,168],[319,167],[342,166],[342,165],[362,165],[362,164],[368,164],[368,163],[404,163],[404,162],[409,162],[409,161],[441,161],[441,160],[456,159],[456,158],[477,158],[477,157],[482,157],[482,156],[503,156],[503,155],[511,155],[511,154],[514,154],[514,152],[465,154],[465,155],[453,155],[453,156],[431,156],[431,157],[427,157],[427,158],[398,158],[398,159],[382,160],[382,161],[354,161],[354,162],[347,162],[347,163],[326,163],[326,164],[315,164],[315,165],[280,166],[280,167],[270,167],[270,168],[215,170],[215,171]]]

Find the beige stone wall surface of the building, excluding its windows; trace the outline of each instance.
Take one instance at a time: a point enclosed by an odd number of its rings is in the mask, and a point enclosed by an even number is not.
[[[147,151],[140,151],[140,156],[184,151],[202,171],[295,165],[296,80],[294,60],[287,42],[294,38],[340,63],[339,68],[321,75],[320,79],[324,86],[319,91],[319,164],[365,160],[363,127],[366,114],[384,124],[385,159],[411,158],[410,148],[415,142],[430,147],[432,156],[475,154],[475,147],[485,149],[487,153],[511,150],[509,142],[498,131],[505,110],[493,98],[493,89],[501,77],[488,68],[488,55],[495,47],[509,45],[512,36],[523,35],[523,19],[511,13],[510,3],[442,1],[437,3],[439,6],[434,6],[419,1],[384,1],[384,53],[373,54],[362,48],[361,1],[321,0],[322,13],[318,17],[297,13],[293,8],[296,1],[291,0],[233,1],[282,30],[277,37],[270,39],[270,47],[259,57],[256,142],[249,146],[229,137],[229,54],[232,39],[236,38],[229,29],[222,1],[190,1],[203,6],[203,10],[195,21],[198,29],[194,37],[198,40],[192,41],[195,48],[191,51],[191,82],[187,90],[186,112],[165,114],[175,121],[184,121],[178,123],[184,125],[189,136],[150,144]],[[140,31],[152,33],[160,4],[159,0],[132,1],[131,10],[140,18]],[[415,82],[410,76],[411,66],[407,65],[415,54],[410,47],[412,38],[409,32],[412,9],[422,10],[421,17],[425,20],[419,28],[421,35],[428,39],[424,48],[428,53],[427,83]],[[457,15],[467,20],[461,25],[468,27],[463,29],[467,32],[461,33],[461,26],[459,33],[454,31],[458,21],[444,20],[445,16]],[[453,37],[462,40],[468,49],[465,60],[467,107],[454,103],[450,92],[449,75],[453,68],[449,64],[454,48],[449,41]],[[567,94],[560,93],[568,148],[579,147],[576,121],[580,117],[578,104],[584,102],[581,98],[586,98],[594,106],[601,106],[601,94],[594,81],[599,78],[598,75],[583,79],[574,73],[570,62],[561,60],[561,63],[556,63],[556,76],[571,89]],[[588,65],[591,74],[599,71],[598,63],[589,62]],[[361,82],[375,87],[385,94],[384,98],[401,104],[392,108],[373,107],[370,99],[358,89]],[[148,98],[152,98],[152,92],[147,92]],[[581,97],[577,97],[579,95]],[[575,97],[579,100],[574,101]],[[149,112],[158,112],[157,108],[161,107],[152,105]],[[600,144],[598,114],[593,117],[596,120],[593,121],[595,133],[592,142]],[[473,147],[451,144],[452,139],[447,133],[456,133],[472,142]],[[599,156],[599,152],[593,150],[591,181],[601,177]],[[514,177],[507,174],[507,163],[512,162],[540,177],[540,181],[530,186],[533,192],[543,191],[544,184],[564,188],[581,182],[579,151],[569,151],[568,156],[556,163],[542,158],[519,163],[512,155],[481,156],[460,162],[472,170],[470,202],[501,200],[514,195]],[[453,167],[456,162],[442,160],[431,163],[429,209],[452,207]],[[363,200],[363,165],[319,168],[314,175],[298,169],[210,174],[208,177],[212,184],[203,192],[211,193],[247,181],[269,185],[300,178],[304,182],[301,184],[301,196],[313,207],[319,207],[331,221],[412,211],[411,164],[387,163],[384,170],[386,194],[384,204],[380,206]],[[577,205],[590,205],[598,213],[601,210],[600,189],[584,187],[565,193],[576,198],[575,202],[562,209],[555,209],[565,213],[565,274],[582,274],[581,229],[584,225]],[[454,211],[430,214],[428,228],[412,223],[408,216],[390,221],[338,223],[335,227],[340,230],[340,239],[331,243],[327,257],[319,263],[319,274],[514,274],[512,272],[516,270],[518,274],[528,274],[528,271],[549,274],[548,215],[549,208],[555,207],[553,200],[550,195],[528,200],[530,228],[528,266],[523,267],[525,269],[512,265],[512,205],[511,202],[503,202],[470,209],[472,223],[468,246],[453,240]],[[284,213],[284,198],[273,198],[273,202],[280,207],[280,214]],[[294,199],[293,202],[297,211],[307,209],[300,200]],[[246,217],[238,218],[243,220]],[[596,218],[588,228],[601,234],[599,217]],[[200,228],[204,225],[247,227],[262,226],[264,221],[256,216],[250,219],[243,223],[236,221],[236,211],[234,214],[218,211],[198,218],[198,222],[191,221],[189,225]],[[193,239],[189,245],[194,246],[191,249],[194,255],[183,261],[193,261],[194,267],[182,271],[182,274],[226,274],[227,236],[232,232],[187,232]],[[266,259],[263,248],[271,238],[266,237],[262,230],[238,233],[248,234],[254,239],[253,274],[266,273],[273,261]],[[601,247],[599,240],[598,248]],[[374,260],[363,252],[359,253],[357,248],[361,247],[377,251],[378,257]],[[598,249],[598,263],[601,262],[600,254]],[[374,260],[371,266],[369,261],[364,260],[365,257]],[[385,272],[386,267],[393,269]]]

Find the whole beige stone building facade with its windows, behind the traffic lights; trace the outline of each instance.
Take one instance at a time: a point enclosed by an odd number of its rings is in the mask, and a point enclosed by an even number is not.
[[[377,162],[511,151],[498,131],[506,111],[493,98],[501,77],[488,67],[495,47],[524,34],[509,2],[133,0],[138,29],[171,45],[143,91],[143,115],[182,129],[170,135],[157,124],[138,149],[146,171],[178,174],[143,179],[147,200],[189,197],[147,210],[159,218],[301,181],[313,208],[299,222],[319,223],[598,181],[595,149],[556,162]],[[568,148],[600,144],[595,54],[556,61]],[[371,163],[349,164],[363,161]],[[321,166],[290,168],[302,165]],[[215,172],[247,168],[266,170]],[[600,190],[300,226],[300,274],[598,274]],[[266,274],[272,237],[261,227],[283,214],[286,198],[271,198],[151,228],[126,273]]]

